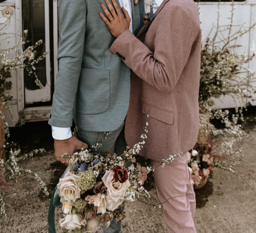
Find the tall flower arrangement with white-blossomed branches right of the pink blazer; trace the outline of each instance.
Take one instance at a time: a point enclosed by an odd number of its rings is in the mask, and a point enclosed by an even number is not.
[[[220,25],[218,5],[217,25],[213,26],[205,44],[202,44],[200,131],[188,162],[195,188],[202,187],[213,166],[238,174],[234,166],[243,156],[242,142],[247,135],[242,127],[245,122],[243,112],[246,111],[247,98],[256,93],[255,72],[248,69],[248,63],[255,54],[238,54],[234,49],[240,47],[237,39],[254,29],[256,23],[248,28],[234,25],[234,10],[235,5],[232,4],[230,24]],[[233,97],[241,107],[232,114],[229,110],[213,109],[214,98],[224,95]],[[221,127],[213,124],[214,121],[218,121]]]

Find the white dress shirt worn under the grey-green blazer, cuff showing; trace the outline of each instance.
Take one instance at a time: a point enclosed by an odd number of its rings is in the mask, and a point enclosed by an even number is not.
[[[132,6],[131,0],[118,0],[121,7],[124,7],[125,10],[128,11],[128,14],[131,18],[129,30],[132,30]],[[157,1],[157,0],[156,0]],[[71,128],[70,127],[56,127],[52,126],[52,137],[58,140],[68,139],[72,136]]]

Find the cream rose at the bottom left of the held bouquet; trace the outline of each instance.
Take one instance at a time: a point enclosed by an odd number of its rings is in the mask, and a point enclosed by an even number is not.
[[[80,229],[86,225],[86,220],[83,219],[82,214],[67,214],[63,219],[60,220],[60,226],[67,230]]]

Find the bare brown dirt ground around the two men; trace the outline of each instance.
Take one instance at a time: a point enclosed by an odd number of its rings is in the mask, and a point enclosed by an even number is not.
[[[250,175],[238,176],[214,168],[208,183],[196,190],[197,211],[196,229],[198,233],[256,233],[256,126],[255,113],[248,115],[245,126],[249,137],[243,144],[243,161],[237,169]],[[47,122],[27,123],[20,128],[11,129],[12,139],[17,141],[22,151],[45,147],[47,152],[21,163],[22,167],[37,171],[50,192],[65,167],[56,162],[53,153],[53,139]],[[152,183],[147,184],[152,199],[157,202],[156,190]],[[6,212],[8,221],[0,220],[1,233],[46,233],[49,197],[44,197],[37,182],[23,175],[17,183],[6,189]],[[122,223],[123,233],[167,232],[159,210],[135,202],[126,205],[126,218]],[[56,210],[57,233],[61,210]]]

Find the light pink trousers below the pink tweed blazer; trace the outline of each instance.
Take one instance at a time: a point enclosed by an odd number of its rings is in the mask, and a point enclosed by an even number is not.
[[[164,222],[169,233],[194,233],[196,199],[193,181],[187,165],[188,152],[172,163],[157,167],[153,172],[157,195],[164,207]],[[152,166],[160,164],[151,160]],[[166,201],[167,200],[167,201]]]

